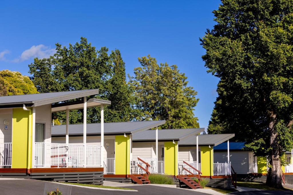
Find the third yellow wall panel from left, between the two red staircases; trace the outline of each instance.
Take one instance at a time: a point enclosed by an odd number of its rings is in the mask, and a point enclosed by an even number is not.
[[[178,175],[178,142],[164,142],[164,171],[167,175]]]

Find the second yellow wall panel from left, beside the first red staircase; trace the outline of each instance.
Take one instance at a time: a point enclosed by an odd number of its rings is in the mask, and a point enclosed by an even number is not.
[[[129,136],[115,136],[115,174],[128,175],[130,168]]]

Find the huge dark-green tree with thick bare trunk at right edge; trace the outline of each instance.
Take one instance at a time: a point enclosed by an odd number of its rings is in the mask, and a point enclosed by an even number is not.
[[[282,188],[293,148],[293,1],[222,0],[201,39],[208,72],[220,78],[209,132],[235,132],[268,156],[266,184]]]

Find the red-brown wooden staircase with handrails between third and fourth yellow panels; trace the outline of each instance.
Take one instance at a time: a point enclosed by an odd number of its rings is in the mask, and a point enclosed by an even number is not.
[[[185,170],[186,172],[188,172],[193,177],[196,177],[198,179],[198,182],[193,181],[187,175],[178,175],[177,178],[178,178],[179,182],[185,184],[186,186],[190,187],[191,189],[202,188],[201,185],[200,185],[200,174],[202,174],[202,172],[200,172],[199,170],[197,170],[196,168],[194,168],[190,164],[186,163],[185,161],[183,161],[183,164],[186,165],[186,166],[189,166],[190,168],[192,168],[193,170],[195,170],[195,171],[198,172],[198,175],[195,175],[195,174],[193,174],[192,172],[190,172],[188,169],[186,169],[183,166],[183,170]]]

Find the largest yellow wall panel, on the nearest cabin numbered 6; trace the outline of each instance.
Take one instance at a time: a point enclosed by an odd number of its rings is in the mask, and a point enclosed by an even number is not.
[[[29,121],[30,119],[30,121]],[[27,168],[28,154],[31,156],[32,142],[28,151],[28,137],[32,137],[32,114],[23,108],[14,108],[12,114],[12,162],[11,168]],[[30,134],[29,134],[30,132]],[[30,166],[31,168],[31,162]]]

